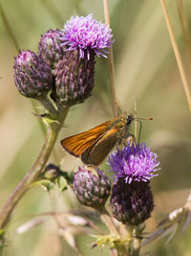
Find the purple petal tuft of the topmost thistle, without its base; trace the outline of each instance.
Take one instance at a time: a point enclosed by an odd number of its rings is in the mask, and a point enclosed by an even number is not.
[[[108,52],[105,48],[112,46],[112,30],[108,25],[96,21],[93,14],[88,16],[72,16],[64,26],[61,36],[62,45],[68,47],[68,51],[79,50],[80,58],[90,59],[92,51],[97,57],[103,56]]]

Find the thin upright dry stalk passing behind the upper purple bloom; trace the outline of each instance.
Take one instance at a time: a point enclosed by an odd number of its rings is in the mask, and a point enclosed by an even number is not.
[[[110,15],[109,15],[109,3],[108,0],[103,0],[105,23],[110,26]],[[117,105],[116,105],[116,89],[115,89],[115,71],[114,71],[114,55],[113,48],[109,49],[109,70],[110,70],[110,89],[112,96],[112,109],[114,117],[117,117]]]

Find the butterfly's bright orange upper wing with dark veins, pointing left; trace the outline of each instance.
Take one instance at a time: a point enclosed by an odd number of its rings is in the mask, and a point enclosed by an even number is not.
[[[105,122],[96,128],[91,128],[84,132],[78,133],[76,135],[67,137],[60,141],[61,147],[73,154],[76,157],[79,157],[83,151],[86,151],[92,145],[99,140],[108,129],[111,128],[113,121]]]

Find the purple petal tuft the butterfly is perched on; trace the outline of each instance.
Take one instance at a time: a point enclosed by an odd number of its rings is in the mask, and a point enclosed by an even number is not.
[[[126,183],[132,181],[148,182],[159,171],[158,154],[150,151],[144,143],[141,145],[127,145],[122,150],[111,153],[108,157],[111,170],[116,178],[123,178]]]

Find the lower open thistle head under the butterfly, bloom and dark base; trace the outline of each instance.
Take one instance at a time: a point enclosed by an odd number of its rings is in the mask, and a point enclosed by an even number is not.
[[[157,157],[143,143],[110,154],[108,161],[116,176],[110,205],[118,221],[138,225],[150,217],[154,207],[150,179],[159,170]]]

